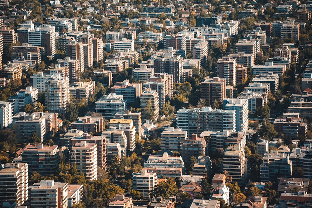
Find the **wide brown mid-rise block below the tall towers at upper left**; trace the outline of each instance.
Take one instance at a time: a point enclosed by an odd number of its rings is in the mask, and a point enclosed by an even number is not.
[[[0,30],[1,31],[1,30]],[[22,46],[12,46],[11,60],[35,60],[36,64],[41,62],[41,48],[23,43]]]

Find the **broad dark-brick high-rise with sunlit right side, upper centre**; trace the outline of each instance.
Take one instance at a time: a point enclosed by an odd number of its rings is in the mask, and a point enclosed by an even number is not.
[[[173,52],[164,52],[154,60],[154,73],[167,73],[173,75],[174,82],[183,81],[183,57]]]

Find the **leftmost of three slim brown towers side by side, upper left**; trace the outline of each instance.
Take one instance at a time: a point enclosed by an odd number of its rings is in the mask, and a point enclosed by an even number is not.
[[[71,60],[79,60],[80,70],[75,71],[75,73],[81,73],[85,70],[85,57],[84,57],[84,44],[83,43],[71,42],[67,44],[67,56],[69,56]],[[73,73],[72,73],[72,76],[73,76]]]

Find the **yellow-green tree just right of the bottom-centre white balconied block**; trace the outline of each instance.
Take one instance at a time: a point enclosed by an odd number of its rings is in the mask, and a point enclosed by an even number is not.
[[[178,193],[178,187],[173,178],[168,178],[167,181],[161,181],[158,186],[151,192],[153,197],[161,196],[164,199],[168,199],[169,196],[176,195]]]

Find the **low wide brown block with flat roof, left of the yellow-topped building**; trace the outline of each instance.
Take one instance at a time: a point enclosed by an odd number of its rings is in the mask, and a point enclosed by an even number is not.
[[[83,132],[102,132],[104,125],[103,117],[78,117],[76,122],[71,123],[71,127]]]

